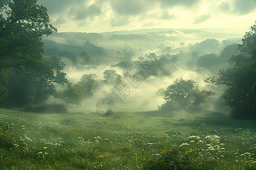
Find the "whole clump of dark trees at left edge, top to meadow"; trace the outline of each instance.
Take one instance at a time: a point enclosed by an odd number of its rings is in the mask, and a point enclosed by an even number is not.
[[[57,31],[38,0],[0,1],[1,106],[40,104],[55,84],[71,85],[59,57],[43,57],[42,36]]]

